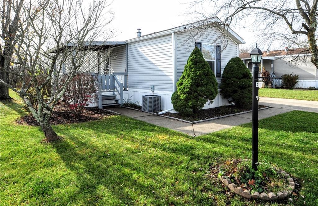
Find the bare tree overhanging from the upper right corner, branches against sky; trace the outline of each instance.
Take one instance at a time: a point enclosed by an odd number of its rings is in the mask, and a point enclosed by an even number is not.
[[[203,18],[218,16],[224,28],[250,25],[259,31],[264,42],[282,42],[303,47],[302,53],[311,54],[311,62],[318,69],[317,4],[318,0],[198,0],[192,6],[203,5],[211,13],[198,12]]]

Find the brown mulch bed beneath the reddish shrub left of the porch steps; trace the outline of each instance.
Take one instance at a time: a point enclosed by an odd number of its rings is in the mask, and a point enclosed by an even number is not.
[[[93,120],[103,119],[113,116],[114,113],[107,110],[102,110],[96,107],[84,108],[79,117],[73,115],[65,103],[57,104],[53,109],[53,114],[50,119],[50,124],[71,124],[79,122],[88,122]],[[30,126],[39,126],[34,117],[28,115],[20,117],[16,120],[17,124],[27,124]]]

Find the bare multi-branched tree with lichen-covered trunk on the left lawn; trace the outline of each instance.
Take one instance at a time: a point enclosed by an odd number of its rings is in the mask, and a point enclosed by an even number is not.
[[[113,19],[113,13],[107,11],[111,2],[84,2],[86,1],[29,0],[22,4],[19,21],[10,21],[10,24],[17,28],[15,46],[10,45],[15,55],[11,63],[21,65],[23,71],[14,73],[6,69],[5,72],[19,76],[22,86],[17,89],[2,78],[0,82],[23,98],[31,114],[40,124],[47,141],[58,139],[49,124],[54,106],[63,96],[72,78],[83,72],[83,62],[89,52],[96,48],[94,40],[106,40],[111,33],[106,30],[106,26]],[[15,12],[19,10],[17,4],[13,3],[11,9]],[[56,87],[63,75],[63,64],[66,62],[69,65],[66,77],[63,84]],[[45,71],[45,79],[39,81],[42,71]],[[52,84],[52,92],[50,96],[43,96],[41,90],[47,84]],[[28,92],[30,88],[34,89],[34,92]],[[31,98],[38,102],[37,108],[31,103]]]

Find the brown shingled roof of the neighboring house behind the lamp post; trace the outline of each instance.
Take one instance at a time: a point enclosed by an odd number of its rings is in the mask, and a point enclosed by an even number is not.
[[[298,54],[308,54],[308,49],[306,48],[296,48],[296,49],[288,49],[288,51],[285,51],[285,49],[282,50],[273,50],[269,51],[268,53],[265,51],[263,52],[263,58],[266,59],[272,59],[276,56],[287,56],[287,55],[298,55]],[[272,57],[272,58],[270,58]],[[241,59],[251,59],[250,53],[240,53],[239,58]]]

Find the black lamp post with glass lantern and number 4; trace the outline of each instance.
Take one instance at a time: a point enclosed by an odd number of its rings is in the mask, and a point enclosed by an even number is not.
[[[252,108],[252,168],[257,170],[258,164],[258,74],[259,74],[259,62],[262,59],[263,52],[257,48],[252,50],[250,53],[251,60],[253,63],[252,77],[253,77],[253,108]]]

